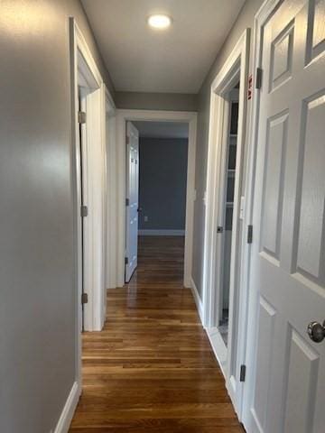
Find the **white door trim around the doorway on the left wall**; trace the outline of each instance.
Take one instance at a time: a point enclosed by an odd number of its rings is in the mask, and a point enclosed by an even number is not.
[[[103,296],[102,296],[102,281],[104,281],[104,256],[103,248],[100,244],[102,237],[102,228],[98,225],[99,219],[103,213],[103,194],[104,194],[104,174],[105,162],[101,167],[103,177],[99,176],[95,179],[92,164],[94,163],[94,152],[98,152],[96,158],[106,159],[106,143],[105,143],[105,85],[100,76],[98,67],[93,59],[91,52],[88,49],[79,27],[74,20],[70,18],[70,60],[71,60],[71,103],[72,103],[72,152],[75,167],[73,167],[72,189],[74,197],[74,212],[76,217],[75,222],[75,243],[76,243],[76,283],[78,290],[76,296],[76,305],[78,310],[78,371],[80,372],[81,359],[81,290],[82,290],[82,246],[81,246],[81,223],[80,223],[80,205],[81,205],[81,185],[80,185],[80,154],[79,154],[79,122],[78,122],[78,86],[79,80],[82,80],[82,85],[87,88],[88,95],[86,97],[86,105],[88,110],[87,119],[87,143],[83,158],[86,160],[83,166],[87,167],[86,176],[83,179],[83,186],[87,191],[87,205],[89,207],[88,217],[85,218],[86,230],[84,229],[84,259],[87,265],[85,266],[84,285],[85,291],[88,293],[88,304],[85,305],[84,326],[87,330],[100,330],[104,323],[103,318]],[[92,142],[90,145],[90,141]],[[97,143],[97,151],[93,151],[94,143]],[[98,192],[99,189],[99,192]],[[100,195],[100,197],[99,197]],[[96,213],[96,215],[95,215]],[[98,267],[98,263],[102,263]]]

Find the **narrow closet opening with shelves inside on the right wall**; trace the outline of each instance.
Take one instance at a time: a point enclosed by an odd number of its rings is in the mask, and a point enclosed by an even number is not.
[[[222,94],[223,115],[219,130],[215,200],[213,309],[208,334],[225,376],[237,373],[237,327],[239,315],[240,235],[243,198],[242,135],[238,143],[240,65]],[[239,132],[239,134],[241,134]]]

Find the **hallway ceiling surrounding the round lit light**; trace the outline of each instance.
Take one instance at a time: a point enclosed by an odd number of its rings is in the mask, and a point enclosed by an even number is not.
[[[81,0],[117,91],[197,93],[245,0]],[[153,31],[150,14],[172,27]]]

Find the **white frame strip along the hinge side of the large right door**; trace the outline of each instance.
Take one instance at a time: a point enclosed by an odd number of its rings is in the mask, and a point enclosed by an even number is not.
[[[265,24],[274,14],[276,9],[282,5],[284,0],[265,0],[263,5],[255,14],[254,20],[254,40],[253,40],[253,78],[255,71],[262,66],[262,50],[263,50],[263,34]],[[255,82],[255,79],[253,79]],[[247,170],[246,170],[246,207],[244,215],[244,224],[249,226],[253,224],[253,211],[254,211],[254,195],[255,195],[255,169],[256,169],[256,155],[257,155],[257,142],[258,142],[258,119],[259,119],[259,106],[260,106],[260,92],[255,86],[252,89],[252,111],[248,127],[248,156],[247,156]],[[244,364],[249,366],[246,369],[246,387],[243,392],[242,404],[242,420],[244,426],[249,421],[250,407],[253,399],[254,392],[254,377],[255,377],[255,355],[256,355],[256,317],[258,312],[258,293],[256,290],[250,290],[250,274],[251,274],[251,247],[249,244],[243,245],[242,257],[242,272],[241,281],[243,290],[246,291],[248,303],[246,305],[246,339],[243,342],[246,347]]]

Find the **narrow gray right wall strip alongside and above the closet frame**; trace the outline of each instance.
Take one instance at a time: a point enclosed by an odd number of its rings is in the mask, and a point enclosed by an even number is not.
[[[230,52],[234,49],[241,34],[246,28],[254,28],[254,16],[262,5],[263,0],[247,0],[238,15],[237,22],[228,34],[217,59],[214,61],[207,78],[205,78],[199,94],[199,113],[198,113],[198,136],[196,154],[196,174],[195,185],[197,199],[194,207],[194,242],[193,242],[193,272],[192,277],[201,295],[202,293],[202,270],[203,270],[203,238],[204,238],[204,219],[205,207],[203,204],[204,191],[207,182],[207,158],[209,140],[209,97],[210,86],[213,79],[218,74]],[[253,39],[253,38],[251,38]],[[251,41],[252,42],[252,41]],[[250,63],[252,64],[252,43]],[[248,104],[249,111],[249,104]],[[248,121],[249,119],[247,119]]]

